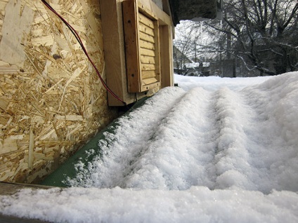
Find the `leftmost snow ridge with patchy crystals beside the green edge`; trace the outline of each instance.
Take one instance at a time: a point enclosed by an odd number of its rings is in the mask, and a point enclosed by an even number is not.
[[[162,119],[186,92],[181,88],[165,88],[129,115],[119,119],[113,133],[105,133],[99,142],[103,157],[96,156],[90,163],[77,163],[77,177],[67,184],[77,187],[123,187],[123,179],[130,173],[129,166],[147,148]],[[164,103],[166,102],[166,103]]]

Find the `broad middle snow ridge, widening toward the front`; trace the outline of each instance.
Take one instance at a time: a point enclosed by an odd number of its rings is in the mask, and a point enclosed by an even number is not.
[[[207,168],[213,157],[216,130],[212,121],[205,119],[210,97],[206,90],[195,88],[176,104],[148,142],[146,153],[131,166],[124,187],[180,190],[193,185],[212,187],[209,179],[212,175]]]

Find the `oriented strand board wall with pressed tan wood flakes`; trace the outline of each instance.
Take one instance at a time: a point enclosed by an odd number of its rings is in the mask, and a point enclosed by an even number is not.
[[[99,1],[48,2],[104,74]],[[70,30],[39,0],[1,0],[0,181],[37,182],[115,116]]]

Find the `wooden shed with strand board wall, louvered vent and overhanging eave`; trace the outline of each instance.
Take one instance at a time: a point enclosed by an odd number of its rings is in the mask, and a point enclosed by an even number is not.
[[[79,37],[40,0],[1,1],[0,181],[38,182],[117,107],[173,86],[174,26],[217,10],[216,0],[44,2]]]

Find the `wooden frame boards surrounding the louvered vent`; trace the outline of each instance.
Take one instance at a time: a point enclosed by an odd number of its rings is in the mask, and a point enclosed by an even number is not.
[[[129,0],[131,1],[131,0]],[[165,86],[173,86],[173,62],[172,62],[172,37],[173,23],[171,17],[158,8],[151,0],[135,1],[138,11],[155,18],[160,27],[160,77],[159,85],[150,86],[149,89],[137,87],[140,92],[129,93],[127,79],[126,51],[124,46],[124,20],[122,14],[123,0],[100,0],[101,18],[103,29],[103,45],[105,51],[105,75],[108,86],[122,100],[130,104],[146,95],[153,95]],[[135,9],[136,10],[136,9]],[[125,11],[125,10],[124,10]],[[141,68],[137,66],[138,71]],[[154,84],[154,83],[153,83]],[[138,85],[140,86],[140,81]],[[146,86],[147,87],[147,86]],[[132,91],[131,91],[132,92]],[[122,106],[123,104],[108,93],[110,106]]]

